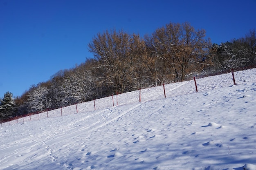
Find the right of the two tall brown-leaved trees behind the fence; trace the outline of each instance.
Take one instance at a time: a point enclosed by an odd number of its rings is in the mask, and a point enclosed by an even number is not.
[[[146,36],[146,44],[155,57],[168,63],[173,81],[183,81],[189,74],[209,64],[210,39],[203,29],[195,31],[188,23],[170,23]]]

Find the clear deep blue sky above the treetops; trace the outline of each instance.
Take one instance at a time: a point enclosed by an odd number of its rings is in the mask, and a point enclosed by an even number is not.
[[[256,29],[255,9],[256,0],[0,0],[0,97],[93,57],[88,43],[99,32],[144,36],[189,22],[220,44]]]

